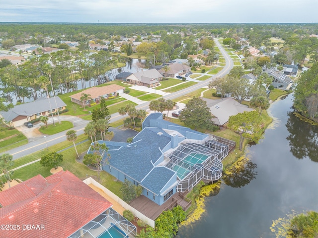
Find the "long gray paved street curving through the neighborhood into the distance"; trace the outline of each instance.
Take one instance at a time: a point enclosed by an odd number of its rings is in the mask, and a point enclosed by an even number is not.
[[[234,66],[234,62],[230,58],[230,56],[227,54],[227,52],[223,49],[223,47],[218,42],[218,40],[215,40],[215,43],[219,47],[219,49],[221,50],[221,54],[224,56],[224,58],[226,60],[225,67],[219,73],[211,76],[209,79],[202,81],[202,82],[199,82],[196,85],[193,85],[192,87],[185,88],[183,90],[180,90],[180,91],[175,92],[175,93],[171,93],[169,95],[165,95],[165,96],[163,96],[164,99],[166,99],[166,100],[171,99],[172,100],[172,99],[178,98],[182,95],[185,95],[185,94],[190,93],[192,91],[195,91],[197,89],[203,88],[204,86],[208,85],[209,82],[214,78],[222,77],[222,76],[229,73],[229,71]],[[136,109],[138,109],[138,110],[140,110],[140,109],[147,110],[148,108],[149,108],[149,102],[145,102],[145,103],[142,103],[142,104],[136,106]],[[115,113],[115,114],[111,115],[110,122],[114,122],[114,121],[119,120],[121,118],[122,118],[122,116],[120,116],[118,113]],[[83,134],[84,127],[86,126],[86,124],[88,122],[89,121],[87,121],[87,120],[77,118],[77,119],[75,119],[75,121],[73,121],[73,123],[74,123],[73,129],[77,131],[78,135]],[[112,128],[110,127],[110,131],[111,130],[112,130]],[[65,133],[66,132],[63,131],[63,132],[60,132],[60,133],[57,133],[54,135],[47,135],[45,138],[41,136],[37,140],[31,141],[26,145],[22,145],[20,147],[14,148],[12,150],[8,150],[5,153],[11,154],[13,156],[13,160],[15,160],[15,159],[18,159],[18,158],[23,157],[25,155],[34,153],[36,151],[46,149],[46,146],[49,147],[49,146],[55,145],[57,143],[66,141]]]

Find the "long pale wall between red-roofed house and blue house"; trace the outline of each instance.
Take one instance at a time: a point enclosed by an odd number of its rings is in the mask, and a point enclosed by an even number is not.
[[[126,210],[131,211],[136,217],[138,217],[140,220],[143,220],[146,222],[149,226],[152,228],[155,228],[155,221],[151,220],[150,218],[146,217],[144,214],[141,212],[137,211],[135,208],[124,202],[121,198],[119,198],[116,194],[108,190],[106,187],[101,185],[99,182],[95,181],[91,177],[83,180],[84,183],[88,184],[93,184],[95,187],[98,187],[101,189],[104,193],[106,193],[108,196],[110,196],[112,199],[114,199],[119,205],[121,205],[123,208]]]

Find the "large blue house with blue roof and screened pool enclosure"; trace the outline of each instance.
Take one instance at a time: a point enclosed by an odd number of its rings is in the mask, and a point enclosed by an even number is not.
[[[98,141],[108,147],[102,169],[120,181],[142,187],[142,195],[162,205],[200,180],[218,180],[229,146],[215,138],[150,114],[132,143]],[[92,153],[90,149],[87,153]],[[106,154],[106,153],[105,153]],[[107,155],[107,156],[108,156]],[[106,160],[106,155],[103,155]]]

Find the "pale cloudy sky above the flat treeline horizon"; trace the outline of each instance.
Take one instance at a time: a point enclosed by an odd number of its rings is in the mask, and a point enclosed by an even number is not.
[[[0,22],[317,23],[318,0],[0,0]]]

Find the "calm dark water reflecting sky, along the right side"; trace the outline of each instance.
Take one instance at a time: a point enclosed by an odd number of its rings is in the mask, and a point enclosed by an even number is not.
[[[274,102],[273,123],[247,149],[253,166],[246,177],[254,179],[222,181],[219,194],[206,198],[201,220],[180,227],[178,238],[272,238],[272,220],[318,211],[318,127],[295,117],[291,106],[292,95]]]

